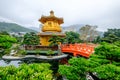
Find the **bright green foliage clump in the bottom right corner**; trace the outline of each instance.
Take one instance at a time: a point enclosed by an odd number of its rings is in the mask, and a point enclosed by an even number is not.
[[[117,67],[112,64],[101,65],[96,67],[94,71],[97,73],[98,77],[101,80],[119,80],[120,75],[120,67]]]

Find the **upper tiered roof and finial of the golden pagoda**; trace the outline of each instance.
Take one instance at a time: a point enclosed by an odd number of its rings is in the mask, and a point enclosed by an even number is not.
[[[54,15],[54,12],[53,11],[50,11],[50,15],[49,16],[41,16],[41,18],[39,19],[39,21],[41,23],[45,23],[46,21],[57,21],[59,24],[62,24],[64,23],[63,22],[63,18],[58,18]]]

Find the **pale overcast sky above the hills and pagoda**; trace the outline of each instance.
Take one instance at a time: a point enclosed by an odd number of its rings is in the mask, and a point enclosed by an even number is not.
[[[64,24],[97,25],[98,30],[120,28],[120,0],[0,0],[0,20],[15,22],[26,27],[39,27],[38,19],[62,17]]]

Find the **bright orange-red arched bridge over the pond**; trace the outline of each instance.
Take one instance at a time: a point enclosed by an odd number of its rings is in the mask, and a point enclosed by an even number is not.
[[[62,44],[61,51],[63,53],[69,53],[73,56],[83,56],[89,58],[94,52],[93,45],[88,44]]]

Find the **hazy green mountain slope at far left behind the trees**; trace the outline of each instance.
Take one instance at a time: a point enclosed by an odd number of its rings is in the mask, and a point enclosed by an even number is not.
[[[34,30],[25,28],[21,25],[16,23],[7,23],[7,22],[0,22],[0,31],[7,31],[7,32],[36,32]]]

